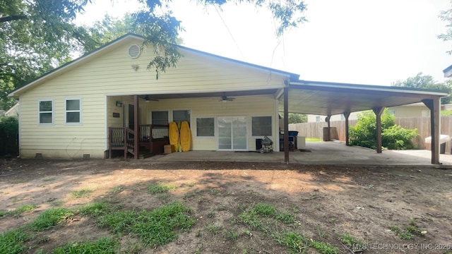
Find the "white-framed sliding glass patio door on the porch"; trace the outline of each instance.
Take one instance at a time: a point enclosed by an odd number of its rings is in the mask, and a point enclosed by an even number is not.
[[[219,116],[218,150],[246,151],[246,116]]]

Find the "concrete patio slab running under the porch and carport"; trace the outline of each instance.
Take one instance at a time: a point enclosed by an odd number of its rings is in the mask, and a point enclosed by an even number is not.
[[[303,152],[302,152],[303,151]],[[297,164],[335,164],[335,165],[417,165],[435,167],[431,164],[429,150],[384,150],[377,154],[375,150],[364,147],[350,147],[343,143],[318,142],[306,143],[302,151],[290,152],[290,163]],[[218,152],[218,151],[190,151],[174,152],[168,155],[157,155],[148,158],[161,162],[279,162],[284,163],[283,152]],[[444,166],[452,167],[452,155],[440,155],[440,162]],[[438,165],[436,165],[437,167]]]

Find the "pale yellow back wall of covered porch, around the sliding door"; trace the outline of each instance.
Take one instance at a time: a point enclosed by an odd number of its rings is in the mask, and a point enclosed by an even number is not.
[[[273,147],[276,149],[276,140],[278,137],[278,119],[275,114],[276,106],[273,95],[256,95],[235,97],[232,102],[218,102],[218,97],[190,98],[190,99],[162,99],[159,102],[144,102],[140,100],[141,123],[151,123],[152,111],[168,111],[169,119],[172,121],[173,110],[190,110],[190,127],[192,136],[192,150],[217,150],[218,149],[218,116],[246,116],[247,117],[247,135],[248,150],[256,150],[256,138],[263,136],[251,136],[251,117],[252,116],[272,116],[272,132],[268,135],[273,140]],[[124,97],[126,99],[126,97]],[[123,105],[126,108],[126,104]],[[110,115],[110,114],[109,114]],[[196,136],[196,118],[213,117],[215,119],[215,136],[197,137]],[[112,122],[113,124],[114,122]],[[110,123],[109,123],[110,125]]]

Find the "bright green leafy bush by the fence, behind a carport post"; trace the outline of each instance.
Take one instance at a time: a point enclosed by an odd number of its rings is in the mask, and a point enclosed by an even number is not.
[[[412,138],[417,137],[417,129],[405,129],[396,126],[395,117],[384,109],[381,114],[381,143],[393,150],[415,148]],[[350,126],[350,145],[359,145],[376,149],[376,116],[373,111],[364,111],[358,115],[355,126]]]

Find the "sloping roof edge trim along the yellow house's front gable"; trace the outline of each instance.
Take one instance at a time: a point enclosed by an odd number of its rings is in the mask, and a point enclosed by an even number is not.
[[[144,40],[144,37],[142,37],[141,35],[136,35],[134,33],[129,32],[126,35],[123,35],[123,36],[117,38],[116,40],[113,40],[112,42],[109,42],[109,43],[105,44],[104,46],[93,50],[92,52],[83,54],[83,56],[78,57],[78,59],[74,59],[73,61],[65,63],[64,65],[59,66],[58,68],[54,68],[54,70],[49,71],[48,73],[45,73],[44,75],[40,76],[39,78],[37,78],[35,80],[32,80],[30,83],[28,83],[27,85],[24,85],[23,87],[18,87],[16,90],[13,90],[11,93],[9,93],[8,96],[9,97],[17,97],[20,94],[22,94],[23,92],[25,92],[26,90],[30,90],[32,87],[35,87],[36,85],[40,85],[40,84],[44,83],[46,80],[52,79],[53,77],[55,77],[57,75],[61,75],[62,73],[71,71],[73,68],[76,68],[76,67],[80,66],[81,64],[83,64],[87,61],[90,61],[91,59],[94,59],[95,57],[100,56],[101,54],[104,54],[105,52],[108,52],[109,50],[114,49],[114,47],[117,47],[119,44],[121,44],[121,42],[125,42],[125,41],[132,40],[132,39]],[[290,73],[287,71],[280,71],[280,70],[277,70],[274,68],[259,66],[257,64],[253,64],[253,63],[246,63],[244,61],[230,59],[225,56],[218,56],[215,54],[210,54],[208,52],[202,52],[200,50],[191,49],[189,47],[184,47],[181,45],[176,45],[176,46],[179,49],[183,49],[183,50],[186,50],[189,52],[194,52],[195,54],[203,54],[205,56],[210,56],[210,57],[213,57],[216,59],[230,61],[230,62],[238,64],[238,65],[244,65],[244,66],[249,66],[251,68],[258,68],[258,69],[261,69],[264,71],[271,71],[271,72],[280,73],[283,75],[289,75],[290,80],[292,80],[292,81],[299,79],[299,75],[295,74],[295,73]]]

